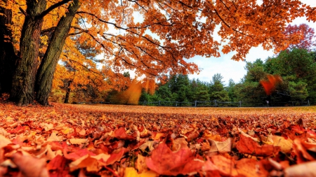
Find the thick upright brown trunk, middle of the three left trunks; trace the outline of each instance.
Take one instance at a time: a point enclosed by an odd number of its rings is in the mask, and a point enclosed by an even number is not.
[[[34,101],[34,83],[39,61],[39,43],[46,0],[28,0],[21,31],[20,55],[13,75],[10,99],[18,106]]]

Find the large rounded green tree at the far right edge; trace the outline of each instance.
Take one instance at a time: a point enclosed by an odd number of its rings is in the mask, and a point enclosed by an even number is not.
[[[293,100],[316,102],[316,62],[313,55],[314,52],[304,48],[293,48],[265,61],[266,72],[282,76],[284,83],[280,85],[279,93],[288,94]]]

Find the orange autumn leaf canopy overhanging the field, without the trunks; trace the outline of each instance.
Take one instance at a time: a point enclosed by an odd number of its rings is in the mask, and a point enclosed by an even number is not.
[[[47,1],[47,8],[53,10],[44,17],[40,52],[46,51],[52,31],[71,3]],[[13,41],[20,40],[25,4],[25,0],[17,0],[1,5],[13,11]],[[99,62],[112,71],[136,69],[136,76],[150,78],[193,73],[199,71],[197,65],[185,59],[219,57],[220,45],[223,53],[235,51],[232,59],[236,60],[244,59],[251,47],[260,44],[265,50],[283,50],[297,42],[286,40],[286,24],[303,15],[315,22],[315,11],[315,7],[293,0],[261,4],[256,0],[81,1],[60,58],[87,68],[91,64],[76,48],[85,43],[104,55]],[[218,34],[214,34],[216,27],[220,27]],[[220,41],[214,36],[220,36]],[[19,43],[15,48],[19,50]]]

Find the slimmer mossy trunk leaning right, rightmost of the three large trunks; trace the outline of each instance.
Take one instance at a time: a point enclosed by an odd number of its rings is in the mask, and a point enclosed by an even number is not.
[[[48,48],[37,72],[37,82],[35,85],[35,92],[37,92],[36,100],[39,104],[48,105],[48,97],[51,92],[56,64],[58,63],[62,47],[65,45],[65,40],[70,31],[72,19],[79,7],[79,0],[74,0],[73,3],[69,5],[68,12],[58,22],[51,42],[48,44]]]

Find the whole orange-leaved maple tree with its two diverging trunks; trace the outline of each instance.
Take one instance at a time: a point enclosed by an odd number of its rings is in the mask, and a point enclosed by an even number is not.
[[[15,19],[11,29],[18,62],[10,97],[18,105],[32,103],[34,98],[40,104],[48,104],[53,73],[63,56],[60,54],[75,53],[76,48],[65,45],[74,40],[89,41],[100,49],[106,57],[105,63],[114,71],[136,69],[137,76],[162,78],[164,73],[198,71],[195,64],[185,62],[184,58],[218,57],[220,42],[229,41],[222,51],[236,51],[232,59],[237,60],[244,59],[252,46],[261,43],[266,50],[273,46],[277,51],[282,50],[287,22],[304,14],[315,21],[310,6],[290,0],[264,1],[261,5],[255,0],[5,2],[3,7],[12,10]],[[134,21],[135,13],[143,21]],[[217,25],[220,25],[220,42],[212,37]],[[39,55],[41,52],[43,57]]]

